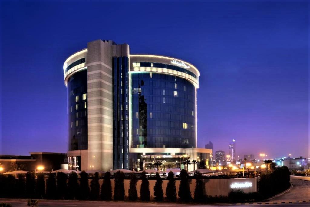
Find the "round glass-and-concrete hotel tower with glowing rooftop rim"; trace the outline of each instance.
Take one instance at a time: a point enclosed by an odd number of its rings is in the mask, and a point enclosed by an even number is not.
[[[130,54],[111,40],[87,43],[64,63],[69,169],[208,165],[212,150],[197,148],[198,77],[186,61]]]

